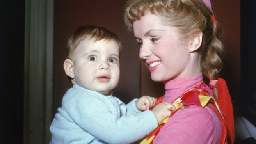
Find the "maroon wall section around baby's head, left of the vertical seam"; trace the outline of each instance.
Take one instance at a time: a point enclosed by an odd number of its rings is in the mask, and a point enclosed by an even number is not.
[[[114,95],[128,102],[139,97],[139,49],[123,22],[124,0],[55,0],[54,7],[54,62],[53,113],[61,98],[71,87],[64,69],[66,42],[72,32],[82,25],[106,27],[116,33],[123,44],[121,51],[121,77]]]

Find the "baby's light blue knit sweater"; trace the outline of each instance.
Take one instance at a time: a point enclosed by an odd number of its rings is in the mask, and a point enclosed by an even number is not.
[[[129,144],[157,126],[153,112],[140,112],[114,96],[73,85],[50,126],[51,144]]]

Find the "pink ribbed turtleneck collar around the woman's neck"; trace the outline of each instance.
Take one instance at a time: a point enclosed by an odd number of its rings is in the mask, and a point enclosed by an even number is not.
[[[201,84],[201,82],[203,82],[202,73],[190,78],[181,78],[164,82],[165,96],[163,101],[173,103],[183,93]]]

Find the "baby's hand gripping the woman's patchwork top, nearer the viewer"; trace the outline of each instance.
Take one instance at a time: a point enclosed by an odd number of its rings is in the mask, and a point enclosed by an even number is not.
[[[158,123],[162,122],[166,117],[171,115],[171,111],[175,110],[175,106],[168,102],[162,102],[155,105],[152,112],[155,114]]]

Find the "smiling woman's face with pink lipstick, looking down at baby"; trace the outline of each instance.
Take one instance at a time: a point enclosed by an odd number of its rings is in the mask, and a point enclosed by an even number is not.
[[[194,74],[193,66],[198,62],[191,55],[188,42],[178,39],[174,27],[164,25],[157,15],[146,11],[133,23],[133,31],[140,45],[139,57],[151,72],[152,80],[165,82]]]

